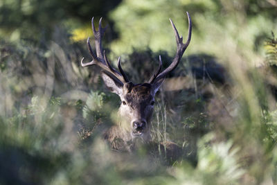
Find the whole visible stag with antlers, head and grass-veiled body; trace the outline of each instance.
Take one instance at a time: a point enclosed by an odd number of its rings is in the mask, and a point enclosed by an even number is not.
[[[89,37],[87,39],[87,48],[91,55],[91,62],[84,63],[84,58],[81,60],[82,67],[96,65],[102,69],[101,76],[107,88],[114,94],[120,97],[121,105],[118,109],[120,123],[110,127],[104,134],[105,140],[108,141],[113,150],[134,150],[135,141],[147,143],[151,141],[150,136],[150,121],[155,104],[155,95],[161,87],[163,80],[170,71],[174,70],[190,44],[192,33],[192,22],[190,15],[188,17],[188,38],[186,43],[183,43],[183,37],[179,36],[175,24],[170,19],[170,24],[175,33],[177,52],[171,64],[164,69],[162,68],[161,55],[159,55],[159,67],[152,74],[148,82],[136,84],[127,78],[126,73],[120,65],[120,57],[118,58],[118,70],[111,66],[107,59],[105,50],[102,49],[102,37],[107,27],[102,28],[102,18],[99,21],[99,28],[96,30],[93,18],[91,19],[92,31],[95,39],[96,54],[91,49]],[[161,147],[166,148],[167,155],[170,157],[170,150],[176,151],[178,148],[174,143],[168,141],[166,146],[161,144]],[[176,152],[175,152],[176,153]],[[174,153],[171,154],[175,155]]]

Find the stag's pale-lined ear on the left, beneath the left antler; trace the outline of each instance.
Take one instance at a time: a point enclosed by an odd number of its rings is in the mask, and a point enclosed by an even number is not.
[[[120,80],[105,71],[102,71],[101,76],[111,92],[118,94],[118,96],[123,94],[123,83]]]

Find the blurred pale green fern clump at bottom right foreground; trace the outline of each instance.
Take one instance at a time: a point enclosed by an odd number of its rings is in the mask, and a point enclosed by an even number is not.
[[[174,173],[176,179],[172,184],[240,184],[245,172],[238,165],[238,148],[232,148],[232,141],[212,144],[214,136],[214,133],[210,133],[199,141],[196,168],[189,168],[188,164],[177,165]]]

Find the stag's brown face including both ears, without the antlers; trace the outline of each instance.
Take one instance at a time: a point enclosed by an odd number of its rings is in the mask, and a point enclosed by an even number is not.
[[[149,124],[155,103],[154,96],[163,79],[154,84],[134,85],[132,82],[127,82],[123,85],[105,72],[102,73],[102,79],[112,92],[120,96],[121,105],[118,113],[125,130],[132,137],[140,136],[143,139],[149,139]]]

